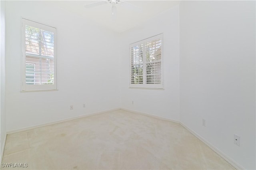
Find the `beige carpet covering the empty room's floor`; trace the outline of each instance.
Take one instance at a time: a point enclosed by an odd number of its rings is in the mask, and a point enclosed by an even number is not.
[[[10,134],[2,163],[28,164],[11,169],[234,169],[181,125],[124,110]]]

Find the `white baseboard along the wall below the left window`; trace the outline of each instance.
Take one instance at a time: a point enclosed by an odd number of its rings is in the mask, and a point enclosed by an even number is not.
[[[41,125],[36,125],[36,126],[30,126],[30,127],[26,127],[26,128],[20,128],[20,129],[10,130],[10,131],[7,131],[7,134],[13,134],[13,133],[18,133],[18,132],[23,132],[23,131],[26,131],[26,130],[31,130],[31,129],[33,129],[33,128],[45,127],[45,126],[53,125],[53,124],[56,124],[56,123],[62,123],[62,122],[71,121],[71,120],[74,120],[74,119],[79,119],[79,118],[82,118],[82,117],[97,115],[97,114],[100,114],[100,113],[106,113],[106,112],[110,112],[110,111],[116,111],[116,110],[119,110],[119,109],[120,109],[120,108],[110,109],[110,110],[101,111],[101,112],[95,112],[95,113],[89,113],[89,114],[87,114],[87,115],[81,115],[81,116],[72,117],[72,118],[68,118],[68,119],[62,119],[62,120],[54,121],[54,122],[51,122],[51,123],[45,123],[45,124],[41,124]]]

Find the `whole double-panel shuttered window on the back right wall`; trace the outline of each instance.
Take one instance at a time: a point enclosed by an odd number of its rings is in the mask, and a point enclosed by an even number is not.
[[[130,44],[130,87],[163,88],[162,34]]]

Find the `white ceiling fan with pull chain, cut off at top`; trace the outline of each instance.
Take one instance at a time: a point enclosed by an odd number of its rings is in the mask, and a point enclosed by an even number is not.
[[[130,4],[129,2],[120,1],[120,0],[102,0],[100,2],[94,2],[91,4],[84,5],[85,8],[93,8],[96,6],[104,5],[104,4],[111,4],[112,5],[112,18],[116,19],[116,5],[120,4],[124,8],[132,9],[136,11],[140,11],[140,8],[138,6],[135,6],[134,4]]]

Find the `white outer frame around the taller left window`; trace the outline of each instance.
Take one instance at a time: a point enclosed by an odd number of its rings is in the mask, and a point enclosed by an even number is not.
[[[47,30],[54,32],[54,84],[40,84],[40,85],[31,85],[26,84],[26,45],[25,45],[25,34],[26,34],[26,25],[39,28],[41,30]],[[52,26],[47,26],[45,24],[40,24],[31,20],[22,18],[22,38],[21,38],[21,49],[22,49],[22,61],[21,61],[21,92],[26,91],[51,91],[57,90],[57,79],[56,79],[56,28]]]

